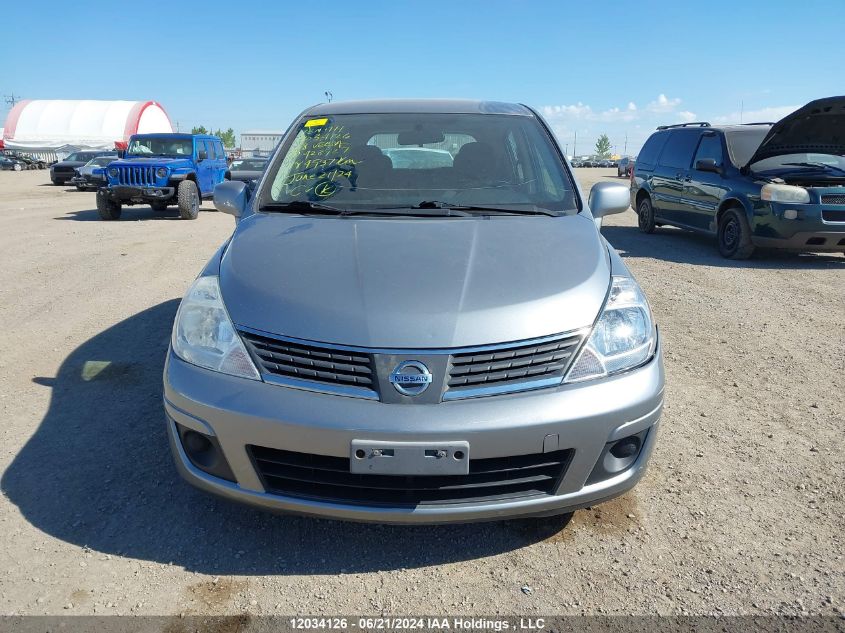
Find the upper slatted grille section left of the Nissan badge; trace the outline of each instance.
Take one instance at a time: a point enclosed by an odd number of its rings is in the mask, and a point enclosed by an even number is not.
[[[294,343],[241,331],[262,374],[375,390],[369,354]]]

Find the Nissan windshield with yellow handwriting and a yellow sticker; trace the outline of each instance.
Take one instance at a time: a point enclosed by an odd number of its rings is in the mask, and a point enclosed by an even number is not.
[[[411,208],[436,200],[574,212],[574,186],[539,122],[493,114],[345,114],[302,121],[261,206]]]

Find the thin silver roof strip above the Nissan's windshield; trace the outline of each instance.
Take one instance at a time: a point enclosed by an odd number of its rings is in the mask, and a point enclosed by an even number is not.
[[[312,106],[303,114],[393,114],[393,113],[441,113],[441,114],[513,114],[534,116],[534,113],[519,103],[502,101],[473,101],[469,99],[373,99],[363,101],[335,101]]]

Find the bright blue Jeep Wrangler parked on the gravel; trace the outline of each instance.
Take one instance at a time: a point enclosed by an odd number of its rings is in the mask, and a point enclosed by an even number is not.
[[[119,219],[124,204],[149,204],[154,211],[176,205],[183,219],[195,220],[200,200],[229,179],[229,170],[216,136],[136,134],[107,175],[108,185],[97,191],[103,220]]]

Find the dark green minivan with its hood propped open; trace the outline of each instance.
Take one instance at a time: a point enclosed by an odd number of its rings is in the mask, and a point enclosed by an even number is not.
[[[731,259],[758,246],[845,252],[845,97],[774,124],[659,127],[637,157],[631,206],[645,233],[709,233]]]

